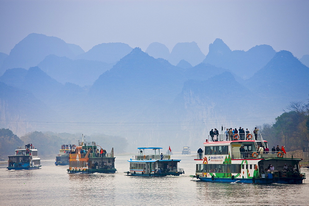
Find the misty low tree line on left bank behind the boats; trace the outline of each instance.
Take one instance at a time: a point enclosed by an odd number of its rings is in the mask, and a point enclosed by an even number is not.
[[[13,155],[17,146],[32,144],[39,151],[41,157],[56,157],[63,144],[78,145],[78,141],[83,141],[82,134],[53,133],[53,132],[30,132],[22,137],[17,137],[9,129],[0,130],[0,157],[7,158]],[[103,149],[110,152],[112,147],[117,154],[126,152],[128,141],[126,138],[118,136],[108,136],[105,134],[89,135],[87,142],[95,142]]]

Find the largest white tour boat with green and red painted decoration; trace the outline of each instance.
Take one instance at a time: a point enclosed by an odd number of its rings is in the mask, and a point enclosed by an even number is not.
[[[239,150],[241,146],[244,151]],[[238,134],[223,134],[215,141],[206,139],[203,153],[195,159],[195,175],[190,177],[223,183],[303,183],[306,177],[300,172],[302,159],[286,158],[284,151],[258,152],[259,146],[268,147],[262,134],[240,138]]]

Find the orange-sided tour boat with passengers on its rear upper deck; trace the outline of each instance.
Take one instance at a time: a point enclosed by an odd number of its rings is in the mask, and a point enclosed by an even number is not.
[[[69,173],[115,173],[114,148],[110,153],[96,153],[101,146],[95,142],[78,142],[69,154]]]

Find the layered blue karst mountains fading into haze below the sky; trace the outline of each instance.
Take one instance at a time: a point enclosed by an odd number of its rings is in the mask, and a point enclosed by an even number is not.
[[[1,127],[19,135],[101,131],[127,138],[133,149],[198,148],[214,127],[252,130],[309,94],[309,68],[289,51],[231,51],[221,39],[205,56],[195,42],[171,53],[161,43],[146,52],[125,43],[84,52],[30,34],[0,53],[0,64]]]

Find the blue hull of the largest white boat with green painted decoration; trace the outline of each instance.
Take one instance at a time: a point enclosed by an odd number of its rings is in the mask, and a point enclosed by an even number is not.
[[[199,177],[201,181],[204,182],[220,182],[220,183],[258,183],[258,184],[301,184],[303,183],[303,178],[256,178],[256,179],[231,179],[231,178],[208,178]]]

